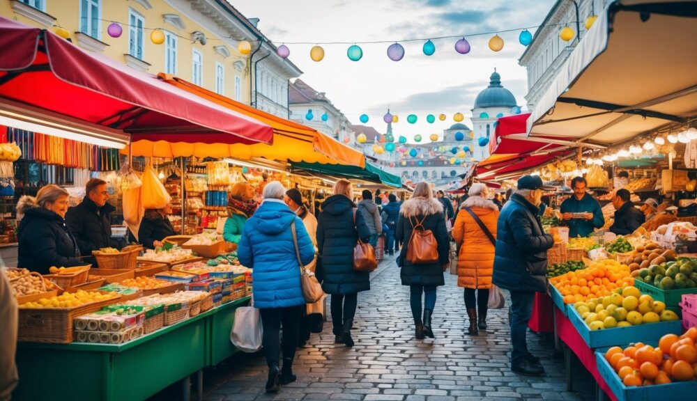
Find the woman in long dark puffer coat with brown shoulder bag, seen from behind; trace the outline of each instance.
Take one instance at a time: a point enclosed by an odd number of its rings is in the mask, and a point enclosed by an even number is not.
[[[370,290],[367,272],[353,272],[353,249],[360,237],[370,239],[370,230],[353,205],[351,182],[339,180],[334,194],[322,203],[317,222],[317,247],[321,255],[322,289],[332,294],[331,310],[335,343],[353,347],[351,326],[358,306],[358,292]],[[318,262],[318,267],[320,263]]]

